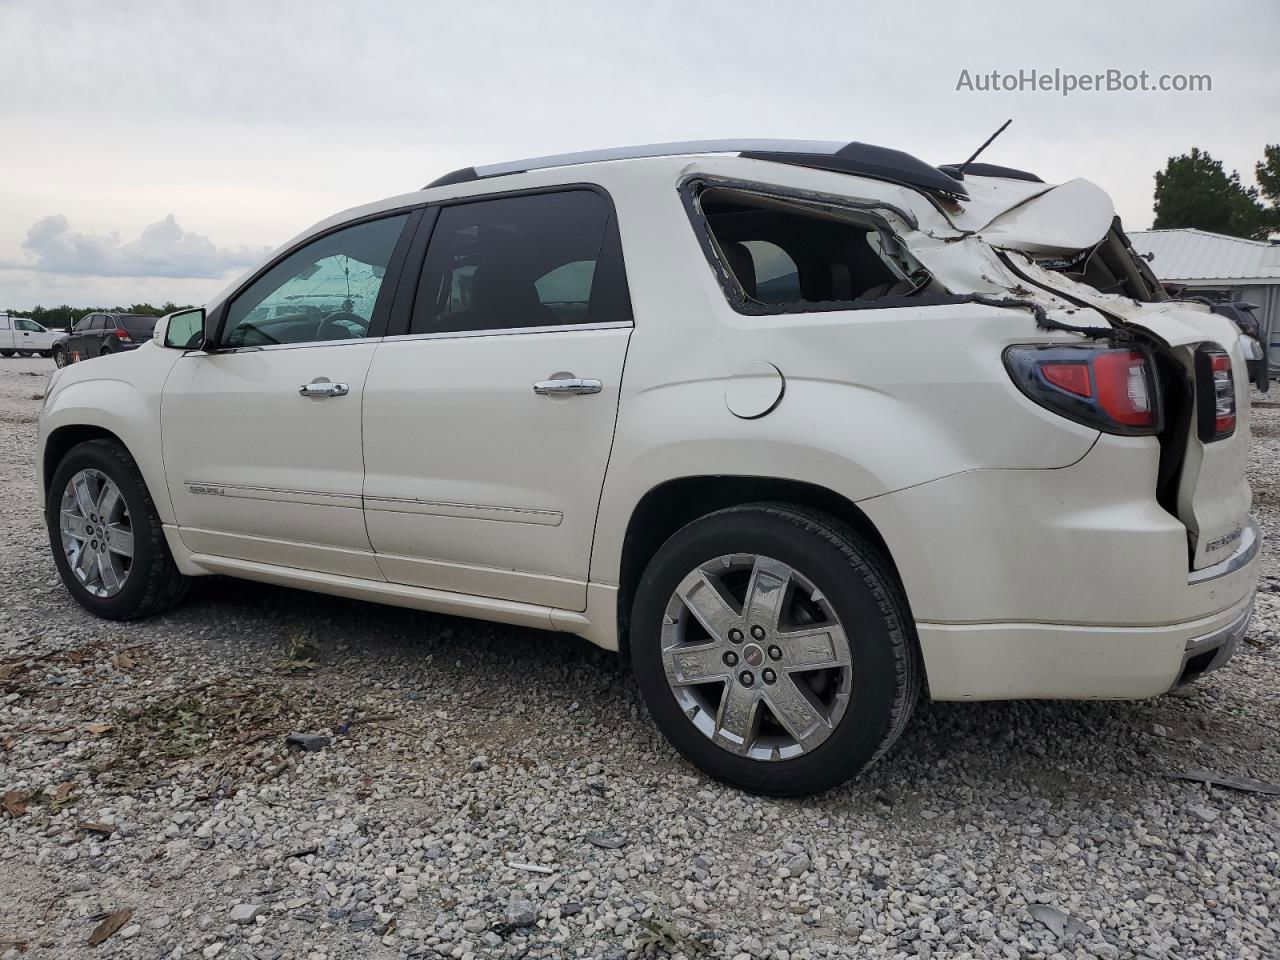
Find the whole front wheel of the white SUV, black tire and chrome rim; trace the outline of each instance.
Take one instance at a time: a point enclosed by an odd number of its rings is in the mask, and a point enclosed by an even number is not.
[[[63,582],[100,617],[147,617],[187,591],[138,465],[113,440],[81,443],[58,465],[47,526]]]

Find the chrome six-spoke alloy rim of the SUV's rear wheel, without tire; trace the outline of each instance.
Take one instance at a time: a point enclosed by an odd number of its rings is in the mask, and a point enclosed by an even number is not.
[[[749,553],[717,557],[680,582],[663,616],[662,659],[690,722],[753,760],[822,744],[852,687],[831,602],[786,563]]]

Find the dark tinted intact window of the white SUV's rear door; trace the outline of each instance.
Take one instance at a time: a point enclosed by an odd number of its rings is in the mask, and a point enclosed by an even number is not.
[[[411,333],[631,319],[609,204],[586,189],[440,210]]]

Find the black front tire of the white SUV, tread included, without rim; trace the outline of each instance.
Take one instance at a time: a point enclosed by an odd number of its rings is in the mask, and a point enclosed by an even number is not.
[[[133,525],[133,566],[120,591],[108,598],[95,596],[81,585],[70,570],[61,544],[59,511],[63,492],[72,477],[87,467],[102,471],[119,488]],[[191,581],[178,572],[173,562],[155,502],[142,479],[142,472],[128,451],[114,440],[87,440],[73,447],[63,457],[49,485],[46,525],[54,563],[63,582],[81,607],[99,617],[106,620],[150,617],[175,605],[187,593]]]

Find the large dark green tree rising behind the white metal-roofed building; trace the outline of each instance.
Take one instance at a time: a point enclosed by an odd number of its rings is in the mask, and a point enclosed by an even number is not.
[[[1266,239],[1271,211],[1258,202],[1256,187],[1240,183],[1240,174],[1228,174],[1222,161],[1197,147],[1190,154],[1169,157],[1156,173],[1157,230],[1196,227],[1230,237]]]

